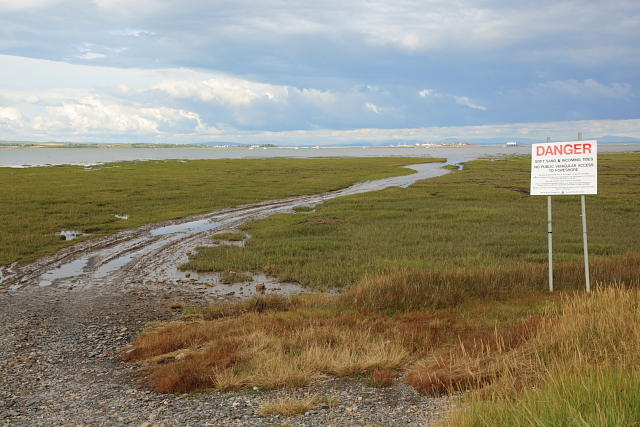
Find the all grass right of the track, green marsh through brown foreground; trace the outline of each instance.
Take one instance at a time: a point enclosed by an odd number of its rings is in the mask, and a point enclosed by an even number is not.
[[[550,294],[546,198],[527,194],[529,159],[475,161],[247,224],[244,248],[200,249],[187,267],[262,269],[343,293],[204,308],[193,324],[142,334],[126,357],[145,361],[160,391],[297,387],[320,373],[381,386],[406,370],[427,394],[477,390],[451,427],[635,425],[639,160],[599,159],[600,193],[587,198],[589,295],[579,198],[553,200]],[[203,365],[224,340],[229,353],[216,360],[227,365]],[[184,351],[191,365],[176,360]]]

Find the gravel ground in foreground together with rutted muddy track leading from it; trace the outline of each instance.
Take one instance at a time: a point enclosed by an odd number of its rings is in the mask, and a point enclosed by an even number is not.
[[[144,388],[139,367],[119,357],[147,322],[179,316],[169,308],[172,302],[209,304],[245,297],[253,288],[225,292],[229,288],[215,276],[186,279],[177,271],[208,236],[330,197],[335,195],[223,209],[180,221],[195,224],[189,232],[174,232],[176,222],[149,225],[81,242],[32,264],[0,267],[0,427],[437,424],[451,399],[420,395],[402,378],[386,389],[323,377],[297,390],[178,396]],[[273,292],[295,291],[270,285]],[[309,396],[336,403],[288,419],[258,414],[265,403]]]

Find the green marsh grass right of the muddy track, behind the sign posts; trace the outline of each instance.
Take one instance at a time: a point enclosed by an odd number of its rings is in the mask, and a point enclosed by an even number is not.
[[[587,196],[594,278],[626,280],[640,252],[640,154],[601,155],[599,194]],[[396,270],[535,272],[546,283],[547,198],[528,195],[530,159],[472,161],[409,188],[341,197],[315,212],[243,225],[244,247],[199,248],[182,268],[260,271],[316,289],[349,287]],[[582,262],[580,198],[553,198],[556,285],[576,286]],[[612,259],[629,264],[611,270]],[[274,273],[275,272],[275,273]],[[443,273],[444,274],[444,273]],[[447,273],[448,274],[448,273]],[[528,274],[528,273],[527,273]],[[535,283],[533,284],[535,285]]]

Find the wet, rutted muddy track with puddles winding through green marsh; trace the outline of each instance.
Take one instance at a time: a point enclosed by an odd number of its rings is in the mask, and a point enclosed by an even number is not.
[[[255,294],[255,286],[266,292],[304,291],[292,283],[254,275],[252,282],[236,285],[220,283],[215,273],[189,273],[178,270],[198,246],[213,246],[210,237],[232,232],[238,226],[275,213],[293,213],[296,206],[313,207],[335,197],[391,186],[407,187],[426,178],[442,175],[440,163],[409,166],[415,174],[355,184],[343,190],[292,197],[220,209],[211,213],[148,224],[105,238],[87,240],[36,262],[0,267],[0,292],[10,295],[53,290],[89,290],[99,295],[116,288],[137,289],[153,294],[180,292],[198,299],[232,300]],[[242,289],[240,289],[242,288]]]

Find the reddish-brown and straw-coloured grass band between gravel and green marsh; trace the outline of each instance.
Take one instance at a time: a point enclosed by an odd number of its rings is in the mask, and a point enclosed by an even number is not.
[[[144,361],[161,392],[299,387],[321,373],[371,380],[406,369],[409,383],[429,394],[504,381],[518,389],[537,381],[550,352],[539,351],[550,345],[539,337],[573,301],[506,285],[506,276],[528,273],[399,271],[338,298],[254,297],[149,330],[124,357]]]

